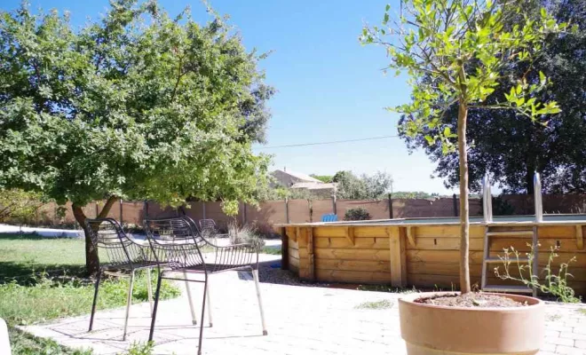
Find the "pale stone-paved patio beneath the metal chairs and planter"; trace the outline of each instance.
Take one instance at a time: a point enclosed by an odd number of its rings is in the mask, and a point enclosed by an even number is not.
[[[393,354],[406,351],[400,339],[396,294],[337,288],[261,284],[269,335],[262,335],[254,283],[228,272],[211,280],[213,327],[203,329],[205,354]],[[202,286],[192,283],[195,303]],[[184,292],[185,294],[185,292]],[[359,309],[365,302],[389,300],[390,309]],[[584,305],[548,304],[545,346],[540,355],[586,354]],[[198,314],[200,314],[198,312]],[[89,316],[24,327],[69,347],[92,347],[96,354],[115,354],[133,342],[144,342],[150,326],[149,305],[131,308],[123,342],[123,309],[98,312],[94,330]],[[154,332],[155,354],[197,353],[199,328],[191,325],[185,296],[160,304]]]

